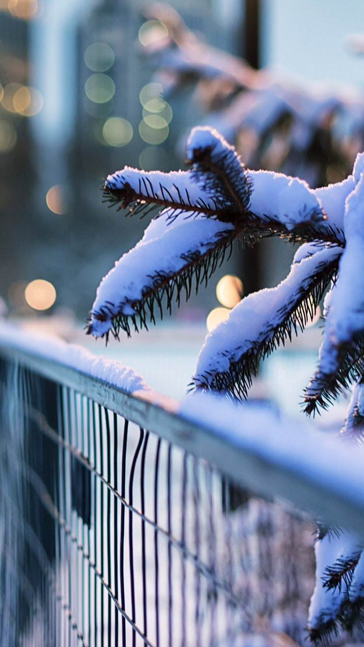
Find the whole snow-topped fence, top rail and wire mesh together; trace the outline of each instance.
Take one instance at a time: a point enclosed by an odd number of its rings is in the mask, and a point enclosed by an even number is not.
[[[5,324],[0,387],[1,644],[302,642],[312,525],[277,500],[364,534],[361,452]]]

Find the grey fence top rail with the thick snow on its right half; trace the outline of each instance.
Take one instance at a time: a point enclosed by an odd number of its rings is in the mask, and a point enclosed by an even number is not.
[[[179,403],[148,388],[143,380],[135,382],[141,388],[128,392],[68,366],[62,356],[47,356],[44,344],[41,349],[33,336],[14,333],[3,323],[0,355],[205,459],[242,487],[290,501],[364,534],[363,451],[335,443],[307,424],[288,421],[262,406],[235,406],[212,396],[188,397]]]

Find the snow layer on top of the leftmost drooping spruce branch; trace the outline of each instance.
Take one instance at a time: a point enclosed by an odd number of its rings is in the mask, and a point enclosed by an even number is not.
[[[142,240],[124,254],[115,267],[102,279],[91,310],[91,332],[102,336],[112,325],[117,313],[133,314],[133,302],[141,300],[144,292],[155,284],[157,272],[173,276],[187,265],[184,254],[203,254],[222,236],[233,230],[233,225],[203,214],[186,212],[170,221],[171,210],[152,221]],[[96,315],[107,308],[106,320]]]

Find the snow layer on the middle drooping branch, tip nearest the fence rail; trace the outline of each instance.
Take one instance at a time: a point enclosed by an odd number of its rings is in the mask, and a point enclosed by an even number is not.
[[[277,287],[249,294],[235,305],[205,339],[194,375],[196,384],[209,383],[216,373],[229,371],[231,362],[269,340],[275,327],[294,308],[302,291],[312,283],[312,277],[341,252],[339,247],[316,248],[312,256],[293,261],[290,274]]]

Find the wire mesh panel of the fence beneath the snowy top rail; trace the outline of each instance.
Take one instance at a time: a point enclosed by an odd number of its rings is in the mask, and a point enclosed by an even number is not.
[[[2,645],[302,642],[310,523],[82,393],[0,378]]]

